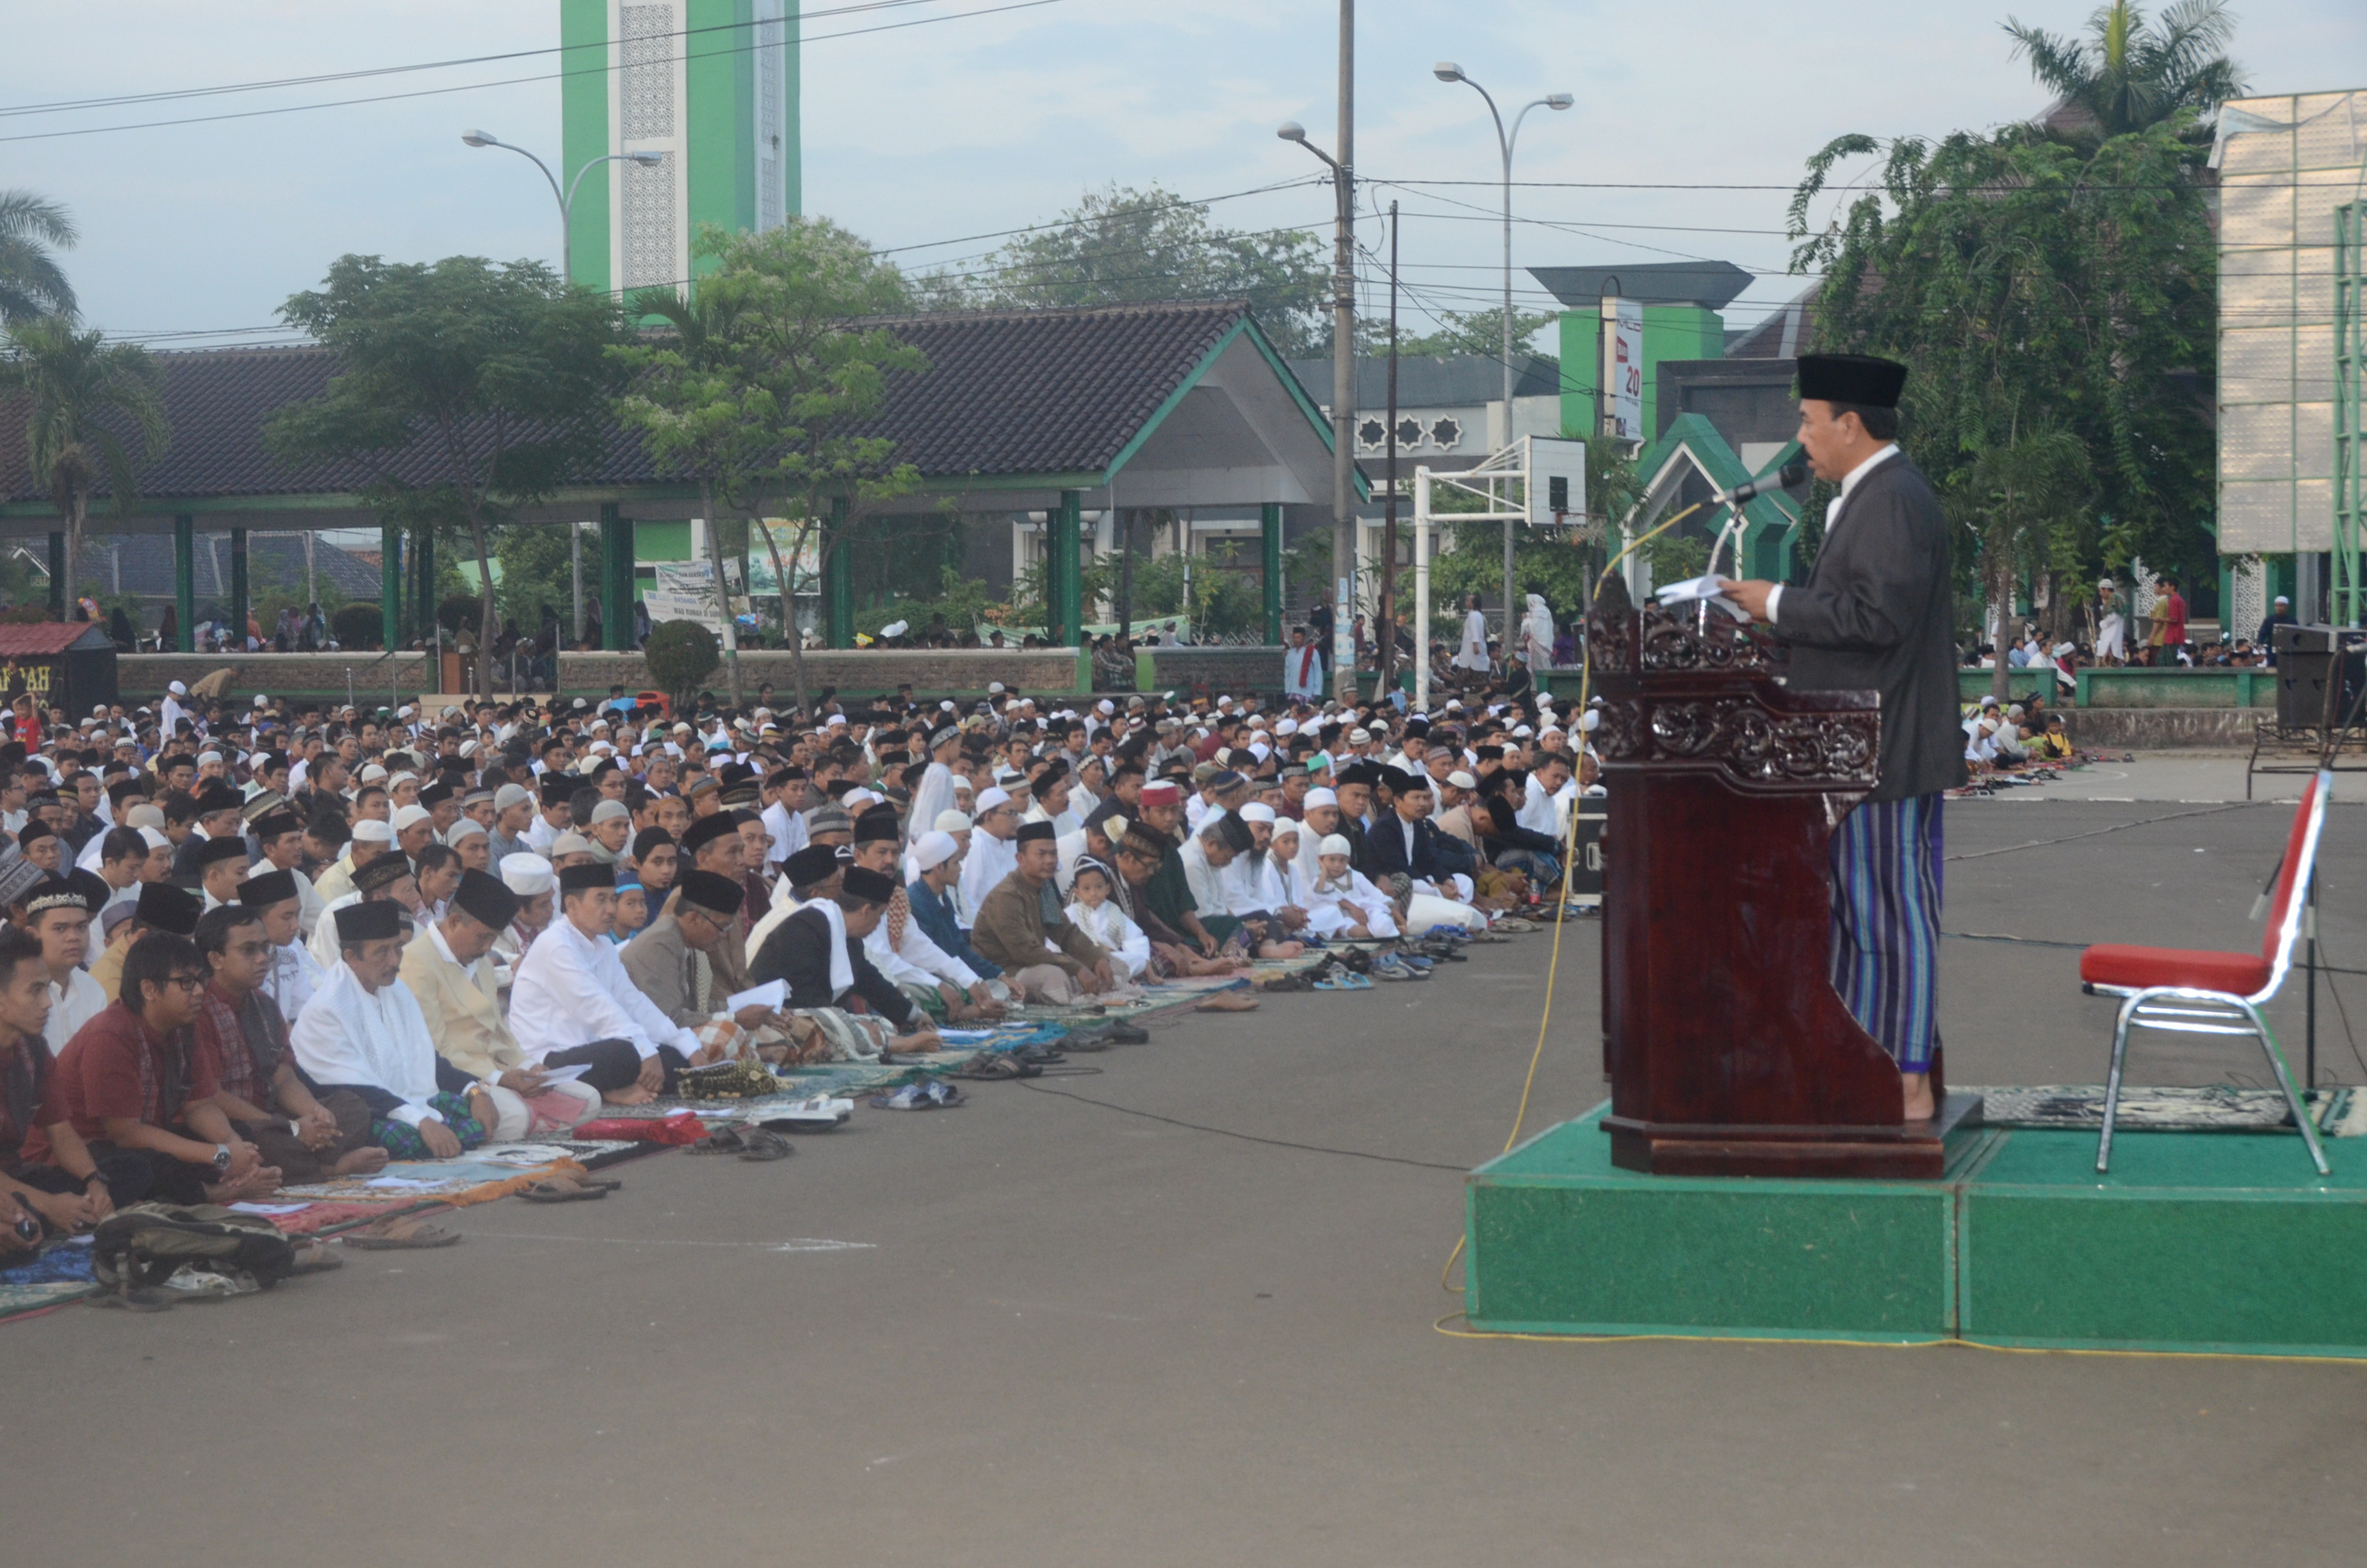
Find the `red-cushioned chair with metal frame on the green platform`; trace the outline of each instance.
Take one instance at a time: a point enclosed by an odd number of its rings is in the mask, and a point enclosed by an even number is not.
[[[2104,1080],[2104,1139],[2095,1149],[2095,1168],[2111,1165],[2111,1123],[2121,1104],[2121,1066],[2128,1061],[2128,1030],[2154,1028],[2182,1035],[2251,1035],[2268,1052],[2268,1066],[2277,1073],[2277,1087],[2294,1108],[2294,1125],[2301,1142],[2310,1146],[2310,1163],[2317,1175],[2331,1175],[2327,1151],[2317,1142],[2308,1106],[2294,1087],[2294,1071],[2284,1063],[2277,1035],[2270,1033],[2260,1004],[2277,995],[2287,971],[2294,966],[2294,943],[2301,938],[2303,907],[2308,902],[2310,869],[2317,865],[2317,834],[2327,824],[2327,796],[2334,775],[2324,767],[2301,791],[2294,810],[2294,827],[2284,838],[2284,865],[2277,867],[2275,900],[2268,912],[2268,933],[2260,938],[2260,955],[2249,952],[2187,952],[2182,947],[2088,947],[2078,959],[2078,978],[2088,990],[2100,990],[2121,1002],[2121,1018],[2111,1030],[2111,1073]]]

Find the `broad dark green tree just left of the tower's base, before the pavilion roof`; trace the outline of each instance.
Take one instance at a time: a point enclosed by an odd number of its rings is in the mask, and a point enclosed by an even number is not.
[[[599,452],[615,306],[535,261],[341,256],[279,320],[338,358],[329,391],[263,431],[282,462],[369,471],[362,500],[412,531],[464,531],[478,568],[481,689],[499,632],[495,531]]]

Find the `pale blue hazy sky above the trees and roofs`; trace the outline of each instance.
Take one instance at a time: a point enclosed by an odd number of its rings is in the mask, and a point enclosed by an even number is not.
[[[975,263],[997,242],[966,237],[1044,223],[1112,182],[1228,197],[1210,208],[1217,223],[1328,237],[1330,189],[1309,180],[1321,166],[1273,128],[1302,121],[1314,142],[1335,144],[1337,5],[907,0],[814,17],[850,2],[807,0],[805,208],[904,265]],[[2014,0],[2012,14],[2076,31],[2090,9]],[[1576,97],[1569,111],[1536,109],[1520,133],[1522,308],[1548,303],[1529,265],[1718,258],[1759,272],[1728,324],[1808,284],[1785,275],[1782,216],[1827,140],[1936,137],[2047,102],[1998,26],[2005,5],[1363,0],[1356,12],[1359,237],[1385,249],[1370,208],[1401,204],[1408,329],[1425,329],[1425,313],[1501,298],[1496,137],[1477,92],[1432,76],[1439,59],[1505,109]],[[2358,0],[2253,0],[2237,14],[2232,54],[2253,92],[2367,83]],[[885,26],[907,21],[918,26]],[[559,88],[533,81],[556,69],[537,54],[559,43],[556,0],[17,0],[7,38],[0,189],[71,208],[80,244],[62,261],[90,324],[156,348],[286,341],[279,303],[348,251],[559,263],[542,178],[459,142],[483,126],[556,159]],[[499,52],[525,54],[40,109]],[[405,97],[350,102],[388,95]],[[282,111],[301,104],[329,107]],[[151,123],[192,116],[244,118]],[[133,128],[57,135],[116,126]],[[1236,197],[1273,185],[1283,189]],[[1815,220],[1834,206],[1827,197]]]

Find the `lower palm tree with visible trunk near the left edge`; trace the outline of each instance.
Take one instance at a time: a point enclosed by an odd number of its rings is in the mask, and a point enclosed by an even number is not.
[[[50,486],[66,521],[64,597],[73,606],[73,564],[83,554],[83,519],[99,478],[118,512],[137,495],[137,464],[118,426],[140,436],[140,462],[163,457],[173,426],[163,412],[163,369],[137,343],[109,343],[104,332],[76,332],[45,315],[7,324],[0,353],[0,393],[24,393],[26,455]]]

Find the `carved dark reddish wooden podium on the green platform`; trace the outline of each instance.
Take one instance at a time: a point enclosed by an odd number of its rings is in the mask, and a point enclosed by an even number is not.
[[[1716,606],[1588,616],[1610,789],[1602,1054],[1612,1161],[1655,1175],[1939,1177],[1974,1094],[1901,1120],[1898,1068],[1832,988],[1834,824],[1875,786],[1875,692],[1789,692]]]

